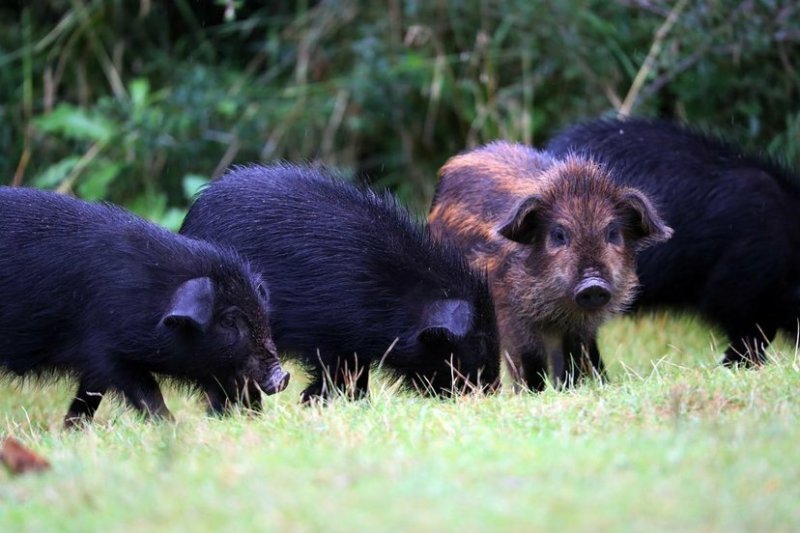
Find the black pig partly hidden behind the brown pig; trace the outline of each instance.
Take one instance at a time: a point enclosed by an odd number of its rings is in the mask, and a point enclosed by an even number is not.
[[[550,141],[586,153],[658,203],[674,238],[644,252],[635,306],[698,312],[722,327],[723,363],[764,361],[800,317],[800,176],[768,157],[665,120],[594,120]]]

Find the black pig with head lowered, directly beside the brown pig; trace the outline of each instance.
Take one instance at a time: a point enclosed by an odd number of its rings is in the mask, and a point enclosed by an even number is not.
[[[237,168],[197,198],[181,232],[233,246],[270,284],[278,348],[312,374],[305,400],[329,385],[365,395],[376,364],[438,394],[496,385],[485,275],[389,194],[309,166]]]

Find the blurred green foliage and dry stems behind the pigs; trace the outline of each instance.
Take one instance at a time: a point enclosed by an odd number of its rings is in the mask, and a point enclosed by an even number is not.
[[[800,166],[800,4],[31,0],[0,7],[0,168],[176,227],[232,164],[318,160],[424,212],[451,155],[616,112]],[[656,54],[647,62],[654,40]],[[644,67],[643,67],[644,66]]]

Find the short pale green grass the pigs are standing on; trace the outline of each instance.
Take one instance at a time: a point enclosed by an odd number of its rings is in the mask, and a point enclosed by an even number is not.
[[[0,432],[53,468],[0,471],[0,531],[800,528],[793,339],[757,371],[718,367],[724,337],[688,318],[617,320],[601,341],[610,383],[569,392],[377,383],[304,408],[295,379],[259,416],[168,390],[174,424],[111,401],[80,432],[59,429],[72,384],[5,382]]]

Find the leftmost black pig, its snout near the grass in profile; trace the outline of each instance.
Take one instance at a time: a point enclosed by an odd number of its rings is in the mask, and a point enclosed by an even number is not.
[[[214,411],[285,386],[265,288],[232,250],[25,188],[0,188],[0,224],[0,366],[75,376],[67,425],[111,391],[169,417],[152,373],[199,386]]]

